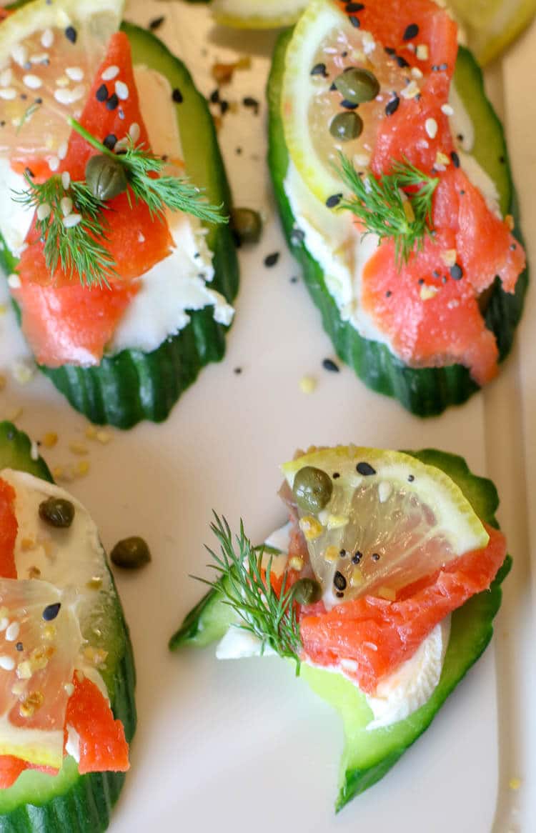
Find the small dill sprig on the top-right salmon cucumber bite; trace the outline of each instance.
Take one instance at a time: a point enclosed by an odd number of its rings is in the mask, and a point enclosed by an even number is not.
[[[394,162],[393,172],[378,179],[360,177],[352,162],[340,154],[339,174],[354,197],[339,202],[363,223],[366,234],[394,240],[398,271],[413,252],[420,252],[433,232],[432,198],[439,180],[419,171],[407,159]]]

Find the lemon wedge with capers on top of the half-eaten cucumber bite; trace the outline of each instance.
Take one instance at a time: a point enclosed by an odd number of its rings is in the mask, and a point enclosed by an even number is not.
[[[408,454],[338,446],[282,468],[294,495],[302,495],[299,524],[328,603],[365,593],[393,600],[401,588],[488,544],[458,486]]]

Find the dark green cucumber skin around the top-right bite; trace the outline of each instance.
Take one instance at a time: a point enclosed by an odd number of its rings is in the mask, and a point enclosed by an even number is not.
[[[298,260],[303,271],[303,279],[313,302],[318,307],[323,328],[333,342],[338,357],[353,367],[358,377],[373,391],[398,399],[403,407],[416,416],[437,416],[449,405],[460,405],[478,391],[468,369],[462,365],[448,367],[414,369],[404,365],[388,348],[379,342],[368,341],[359,336],[349,322],[343,322],[333,297],[328,292],[323,272],[318,263],[309,254],[303,242],[293,237],[296,228],[295,219],[284,192],[283,181],[288,168],[288,151],[283,137],[283,125],[280,117],[281,85],[283,80],[284,57],[292,30],[283,32],[273,53],[272,71],[268,80],[268,167],[270,169],[279,215],[288,246]],[[463,67],[464,80],[472,84],[477,97],[481,97],[489,120],[495,132],[503,128],[493,107],[485,97],[483,75],[470,52],[460,47],[458,63]],[[458,66],[457,66],[458,72]],[[459,70],[461,72],[461,70]],[[493,132],[493,131],[492,131]],[[501,153],[504,159],[503,174],[499,185],[508,189],[508,198],[503,202],[513,217],[518,218],[517,200],[508,164],[508,152],[502,142]],[[484,154],[485,156],[485,154]],[[483,167],[486,167],[482,159]],[[518,222],[516,222],[518,229]],[[516,232],[519,242],[523,242]],[[523,301],[528,286],[528,270],[518,277],[515,293],[503,292],[499,282],[496,283],[485,315],[487,327],[493,331],[499,351],[499,360],[508,355],[513,343],[513,335],[523,311]]]

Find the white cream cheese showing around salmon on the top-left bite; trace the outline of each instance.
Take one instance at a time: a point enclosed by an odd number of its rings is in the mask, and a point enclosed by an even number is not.
[[[140,106],[153,151],[171,159],[182,154],[167,78],[147,67],[136,67]],[[33,212],[11,199],[23,191],[24,178],[14,173],[7,159],[0,157],[0,231],[13,254],[22,252]],[[169,229],[175,248],[168,257],[140,277],[141,288],[129,305],[107,352],[126,349],[151,352],[190,321],[189,312],[213,307],[214,319],[228,325],[231,307],[220,292],[210,286],[214,277],[213,252],[206,241],[206,229],[195,217],[168,212]],[[143,235],[139,246],[143,247]]]

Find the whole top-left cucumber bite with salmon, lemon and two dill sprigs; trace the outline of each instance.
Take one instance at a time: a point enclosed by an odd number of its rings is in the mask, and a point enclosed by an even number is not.
[[[121,0],[33,0],[0,24],[0,265],[44,373],[95,423],[162,421],[233,318],[212,118]]]

